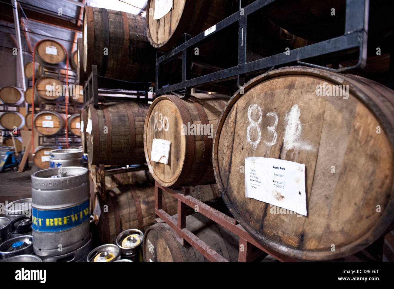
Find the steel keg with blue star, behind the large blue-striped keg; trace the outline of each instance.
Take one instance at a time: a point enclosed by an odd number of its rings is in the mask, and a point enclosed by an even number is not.
[[[80,167],[83,165],[82,149],[54,149],[49,152],[49,167]]]

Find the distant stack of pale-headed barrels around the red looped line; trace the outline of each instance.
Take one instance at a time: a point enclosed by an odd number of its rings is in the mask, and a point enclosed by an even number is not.
[[[25,93],[25,99],[28,104],[32,102],[39,104],[44,103],[46,109],[36,113],[32,123],[31,112],[26,116],[26,125],[28,128],[34,128],[40,135],[45,136],[42,145],[35,148],[33,162],[40,169],[47,169],[53,164],[49,160],[49,151],[65,147],[67,140],[63,136],[67,129],[69,141],[76,147],[79,147],[80,131],[80,106],[83,103],[82,87],[78,82],[70,83],[69,103],[74,104],[74,114],[66,115],[63,109],[58,109],[56,104],[65,103],[65,74],[71,70],[65,70],[66,52],[63,46],[54,40],[41,40],[37,44],[35,51],[37,63],[28,63],[25,66],[25,73],[28,77],[33,77],[35,70],[34,88],[28,88]],[[69,68],[77,70],[78,50],[70,53]],[[60,79],[53,77],[51,72],[59,71]],[[76,74],[76,73],[75,73]],[[78,81],[78,80],[77,80]],[[70,85],[69,85],[70,87]],[[26,98],[26,95],[29,95]],[[53,109],[52,109],[53,108]]]

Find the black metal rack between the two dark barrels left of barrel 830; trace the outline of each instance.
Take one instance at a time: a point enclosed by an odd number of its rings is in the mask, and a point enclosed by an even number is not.
[[[148,98],[148,92],[153,92],[152,85],[154,84],[123,81],[97,75],[97,65],[93,64],[92,72],[84,85],[84,107],[86,109],[89,104],[98,107],[99,102],[152,101],[153,98]]]

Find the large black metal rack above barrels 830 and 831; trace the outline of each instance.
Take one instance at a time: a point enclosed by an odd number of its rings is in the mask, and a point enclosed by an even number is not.
[[[241,1],[240,1],[241,2]],[[251,55],[249,46],[247,29],[247,18],[252,13],[275,2],[275,0],[256,0],[255,2],[245,6],[243,13],[237,11],[236,13],[225,18],[221,22],[212,26],[212,32],[209,34],[202,32],[199,35],[191,38],[190,35],[184,34],[182,40],[184,43],[180,44],[165,55],[156,56],[156,96],[161,94],[182,91],[184,90],[183,98],[190,96],[190,89],[201,86],[203,84],[216,83],[219,81],[226,81],[230,79],[238,80],[238,87],[245,84],[245,76],[253,73],[259,73],[273,68],[274,66],[283,66],[284,64],[298,64],[305,66],[312,66],[332,70],[335,72],[343,72],[345,70],[362,67],[366,63],[366,47],[367,47],[367,25],[368,25],[368,3],[369,0],[346,0],[346,19],[345,19],[345,33],[342,36],[332,39],[324,40],[318,43],[310,44],[301,48],[291,50],[290,54],[286,52],[271,55],[258,59],[255,61],[248,61]],[[241,4],[240,4],[241,9]],[[242,15],[241,15],[242,14]],[[193,47],[206,41],[208,37],[215,37],[218,32],[238,22],[238,64],[236,66],[219,70],[207,75],[191,78],[191,51]],[[209,30],[209,29],[208,29]],[[311,57],[318,57],[332,53],[346,53],[346,50],[359,50],[358,63],[351,67],[332,69],[325,66],[306,63],[304,59]],[[161,83],[163,72],[160,70],[165,63],[173,61],[182,54],[182,81],[172,84],[163,85]],[[327,63],[329,64],[329,63]]]

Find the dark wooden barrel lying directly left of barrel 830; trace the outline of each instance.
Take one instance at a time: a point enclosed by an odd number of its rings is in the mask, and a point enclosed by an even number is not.
[[[90,164],[144,164],[143,126],[149,105],[140,102],[89,105],[86,143]]]

